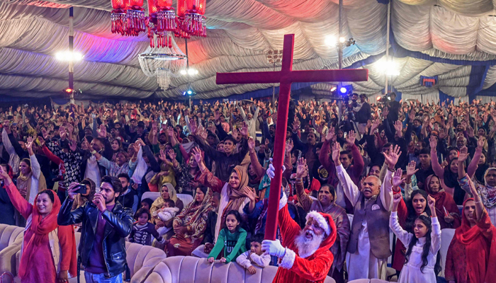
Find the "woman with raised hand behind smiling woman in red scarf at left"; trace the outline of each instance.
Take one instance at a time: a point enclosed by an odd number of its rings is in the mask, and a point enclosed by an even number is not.
[[[17,190],[30,204],[34,204],[36,194],[47,189],[45,176],[41,173],[40,163],[33,152],[33,137],[26,142],[29,159],[23,158],[19,163],[19,176],[16,180]],[[16,225],[25,226],[26,220],[16,213]]]

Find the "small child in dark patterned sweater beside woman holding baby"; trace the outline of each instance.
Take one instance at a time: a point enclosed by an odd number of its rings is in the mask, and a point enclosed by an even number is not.
[[[164,238],[162,238],[159,235],[159,232],[155,230],[155,226],[148,222],[151,216],[147,209],[138,209],[135,217],[137,217],[137,222],[133,224],[133,231],[131,231],[129,236],[129,241],[131,243],[140,243],[143,246],[152,246],[152,236],[154,236],[159,243],[164,243]]]

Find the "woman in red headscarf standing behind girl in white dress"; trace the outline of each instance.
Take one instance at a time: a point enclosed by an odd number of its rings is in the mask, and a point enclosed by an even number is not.
[[[441,229],[458,228],[461,224],[460,211],[458,210],[453,197],[442,190],[439,177],[436,175],[429,175],[429,177],[425,179],[424,187],[424,190],[436,200],[436,214],[444,215],[444,217],[438,218]]]

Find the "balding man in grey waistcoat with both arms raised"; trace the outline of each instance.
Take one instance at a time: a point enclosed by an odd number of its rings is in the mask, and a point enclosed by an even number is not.
[[[344,195],[354,207],[346,253],[349,281],[354,279],[386,279],[386,265],[391,255],[389,249],[389,214],[393,203],[391,179],[401,152],[398,146],[384,154],[388,172],[384,181],[374,175],[361,183],[361,191],[349,178],[339,161],[339,144],[332,148],[337,178]]]

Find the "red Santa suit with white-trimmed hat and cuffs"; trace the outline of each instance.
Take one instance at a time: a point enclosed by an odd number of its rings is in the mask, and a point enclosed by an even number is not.
[[[326,237],[315,253],[300,255],[295,244],[295,238],[300,234],[300,226],[291,218],[288,212],[286,195],[279,204],[278,224],[283,238],[282,246],[286,247],[286,254],[281,258],[281,264],[274,277],[273,283],[323,283],[329,272],[333,256],[329,250],[336,241],[336,224],[329,214],[309,212],[307,220],[312,218],[324,229]]]

